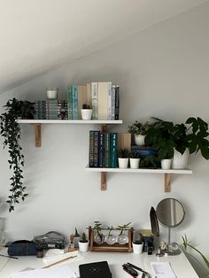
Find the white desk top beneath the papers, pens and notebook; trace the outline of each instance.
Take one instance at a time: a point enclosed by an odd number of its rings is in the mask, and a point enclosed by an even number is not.
[[[0,251],[1,254],[6,254],[6,249]],[[161,257],[158,258],[155,255],[148,256],[146,253],[136,255],[134,253],[117,253],[117,252],[98,252],[89,251],[81,254],[83,259],[79,261],[69,262],[66,264],[79,274],[78,266],[84,263],[96,262],[107,260],[112,272],[112,278],[131,278],[124,270],[121,265],[123,263],[130,262],[135,266],[140,266],[150,274],[151,272],[151,261],[168,261],[170,262],[174,274],[177,278],[198,278],[196,272],[190,265],[190,262],[182,253],[178,256]],[[35,256],[24,256],[19,259],[7,259],[0,257],[0,277],[10,278],[12,273],[18,272],[27,266],[33,268],[42,268],[43,259],[37,259]]]

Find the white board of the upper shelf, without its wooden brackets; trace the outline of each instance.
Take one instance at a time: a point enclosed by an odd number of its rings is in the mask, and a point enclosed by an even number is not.
[[[122,124],[122,120],[18,120],[19,124]]]

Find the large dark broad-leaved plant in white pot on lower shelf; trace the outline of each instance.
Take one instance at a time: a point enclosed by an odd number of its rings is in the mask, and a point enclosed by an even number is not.
[[[156,122],[146,132],[145,143],[158,150],[159,158],[173,158],[172,167],[186,167],[188,158],[183,158],[182,162],[176,162],[174,150],[183,154],[187,148],[191,153],[201,152],[205,159],[209,159],[209,141],[207,139],[208,124],[197,117],[190,117],[185,124],[174,125],[171,121],[164,121],[158,118],[152,118]],[[187,155],[187,151],[186,151]]]

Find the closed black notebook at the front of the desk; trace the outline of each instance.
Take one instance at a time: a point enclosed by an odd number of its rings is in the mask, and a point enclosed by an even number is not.
[[[107,261],[79,266],[80,278],[112,278]]]

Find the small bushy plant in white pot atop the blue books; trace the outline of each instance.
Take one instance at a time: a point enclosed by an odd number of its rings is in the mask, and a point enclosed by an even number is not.
[[[144,145],[146,131],[151,127],[151,124],[146,121],[144,124],[135,120],[131,126],[128,126],[128,132],[135,136],[135,144],[138,146]]]

